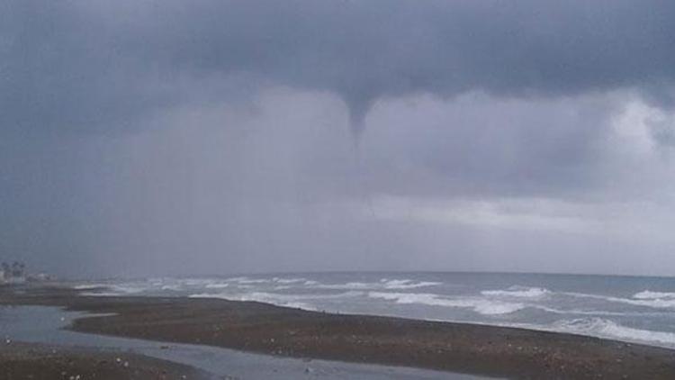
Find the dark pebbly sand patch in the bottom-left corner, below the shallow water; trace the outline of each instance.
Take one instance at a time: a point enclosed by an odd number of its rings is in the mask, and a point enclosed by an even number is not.
[[[126,352],[20,342],[0,345],[0,379],[197,379],[209,375],[165,360]]]

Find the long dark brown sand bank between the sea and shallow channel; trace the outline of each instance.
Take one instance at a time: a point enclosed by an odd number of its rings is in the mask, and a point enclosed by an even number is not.
[[[306,312],[266,303],[85,297],[63,288],[0,292],[0,303],[115,313],[72,329],[362,363],[536,379],[675,379],[675,351],[572,334]]]

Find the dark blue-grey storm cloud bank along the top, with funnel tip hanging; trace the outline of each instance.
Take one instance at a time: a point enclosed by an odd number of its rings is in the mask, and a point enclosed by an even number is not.
[[[635,87],[672,103],[671,1],[9,1],[2,129],[106,130],[253,79],[377,99]],[[238,82],[235,80],[238,78]],[[234,82],[233,82],[234,80]]]

